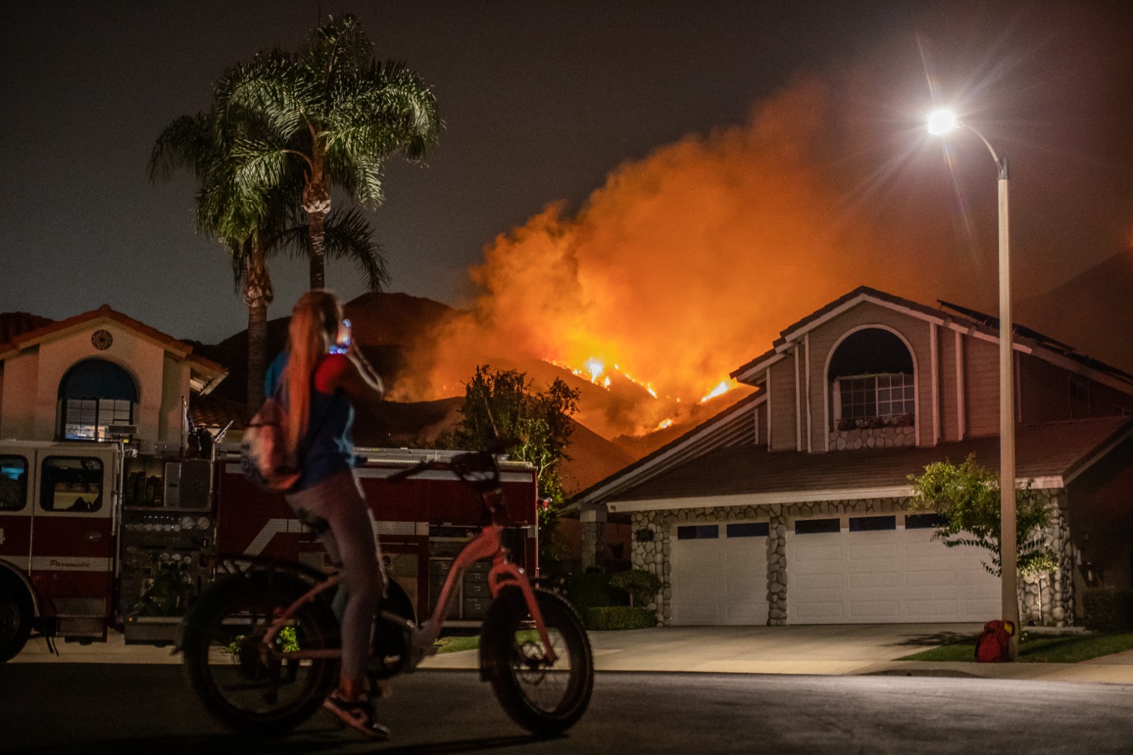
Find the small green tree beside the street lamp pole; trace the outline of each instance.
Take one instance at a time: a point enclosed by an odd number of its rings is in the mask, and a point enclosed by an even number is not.
[[[988,551],[991,563],[983,563],[989,574],[1003,571],[999,549],[1000,509],[999,477],[976,464],[974,455],[955,466],[938,461],[925,467],[925,474],[909,475],[914,495],[913,511],[936,511],[944,524],[932,537],[948,548],[976,545]],[[1043,531],[1050,521],[1050,510],[1028,481],[1015,490],[1015,527],[1017,568],[1024,575],[1053,571],[1057,567],[1054,551],[1047,545]]]

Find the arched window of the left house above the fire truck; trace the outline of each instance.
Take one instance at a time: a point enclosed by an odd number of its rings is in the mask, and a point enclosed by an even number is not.
[[[63,440],[104,440],[109,425],[131,424],[137,400],[128,372],[105,359],[84,359],[59,381],[59,434]]]

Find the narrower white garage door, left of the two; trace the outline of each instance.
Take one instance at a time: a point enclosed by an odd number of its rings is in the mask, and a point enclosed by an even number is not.
[[[681,525],[670,542],[673,623],[767,623],[766,521]]]

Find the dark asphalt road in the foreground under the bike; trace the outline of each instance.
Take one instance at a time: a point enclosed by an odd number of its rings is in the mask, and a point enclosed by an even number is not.
[[[173,665],[0,665],[0,752],[949,753],[1133,752],[1133,686],[938,677],[599,673],[590,710],[537,740],[461,671],[397,680],[375,745],[320,714],[281,739],[214,724]]]

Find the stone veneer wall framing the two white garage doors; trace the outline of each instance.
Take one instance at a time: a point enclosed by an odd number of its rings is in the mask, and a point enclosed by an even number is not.
[[[1020,580],[1021,613],[1024,625],[1045,623],[1067,626],[1074,618],[1073,545],[1063,510],[1064,498],[1057,492],[1045,494],[1055,512],[1051,517],[1047,536],[1051,546],[1060,554],[1060,568],[1040,579],[1029,577]],[[767,623],[783,626],[787,623],[786,594],[786,532],[787,521],[795,517],[834,517],[846,514],[898,514],[906,510],[906,498],[875,498],[846,501],[816,501],[810,503],[789,503],[770,506],[732,506],[668,509],[657,511],[636,511],[633,518],[633,551],[631,561],[633,568],[644,569],[661,579],[661,591],[647,608],[656,611],[657,621],[670,625],[672,621],[672,537],[675,537],[676,525],[712,524],[714,521],[746,521],[751,519],[768,520],[767,536]],[[639,533],[648,531],[651,538],[640,540]],[[646,536],[648,537],[648,535]],[[1040,610],[1041,606],[1041,610]],[[991,617],[989,617],[991,618]]]

